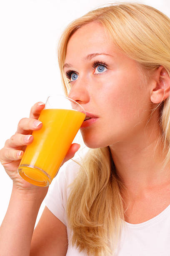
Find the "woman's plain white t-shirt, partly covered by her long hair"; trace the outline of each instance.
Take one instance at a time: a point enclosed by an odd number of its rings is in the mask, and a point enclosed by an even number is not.
[[[45,205],[67,227],[65,207],[70,188],[80,166],[72,160],[60,167],[45,197]],[[67,227],[68,250],[66,256],[87,256],[70,244]],[[156,217],[140,224],[125,222],[115,256],[170,256],[170,205]]]

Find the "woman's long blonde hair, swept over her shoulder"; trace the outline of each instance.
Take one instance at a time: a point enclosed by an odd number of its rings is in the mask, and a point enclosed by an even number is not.
[[[90,22],[98,22],[107,29],[113,44],[140,64],[146,79],[160,65],[170,75],[170,19],[148,5],[116,3],[90,11],[70,23],[62,33],[58,61],[65,95],[70,90],[63,72],[68,41],[77,29]],[[160,143],[164,143],[165,167],[170,161],[170,98],[153,105],[153,111],[160,110]],[[78,164],[80,171],[71,184],[66,209],[72,246],[88,255],[112,255],[124,223],[121,191],[125,186],[116,174],[109,146],[90,148]]]

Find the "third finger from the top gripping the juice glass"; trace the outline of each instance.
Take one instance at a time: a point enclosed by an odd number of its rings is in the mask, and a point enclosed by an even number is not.
[[[32,135],[23,135],[20,133],[15,133],[5,142],[5,147],[7,148],[18,148],[20,146],[27,146],[33,141]]]

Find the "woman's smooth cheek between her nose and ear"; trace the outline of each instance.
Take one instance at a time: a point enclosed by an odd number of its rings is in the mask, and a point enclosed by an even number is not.
[[[103,102],[102,116],[107,120],[108,129],[114,126],[125,131],[148,117],[146,109],[149,100],[147,92],[140,88],[138,77],[118,77],[107,82],[103,94],[100,95]]]

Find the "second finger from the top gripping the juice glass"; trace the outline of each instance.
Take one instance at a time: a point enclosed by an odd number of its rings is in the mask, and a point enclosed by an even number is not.
[[[33,118],[22,118],[18,123],[16,133],[30,134],[32,131],[37,131],[40,128],[42,128],[41,121],[35,120]]]

